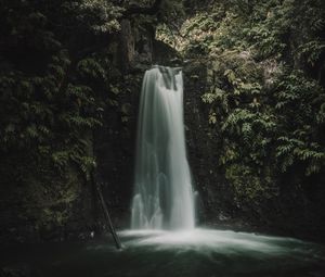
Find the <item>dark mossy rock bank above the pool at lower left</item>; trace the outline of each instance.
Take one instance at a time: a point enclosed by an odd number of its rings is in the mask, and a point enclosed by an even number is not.
[[[1,245],[39,241],[62,241],[89,236],[94,225],[90,187],[75,171],[15,184],[2,191]]]

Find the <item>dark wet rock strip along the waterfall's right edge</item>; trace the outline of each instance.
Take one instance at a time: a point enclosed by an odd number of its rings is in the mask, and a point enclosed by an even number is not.
[[[194,188],[198,192],[198,223],[218,222],[220,213],[223,217],[232,213],[232,196],[216,171],[218,137],[209,126],[209,111],[202,101],[202,95],[208,89],[207,64],[207,61],[187,61],[183,66],[185,135]]]

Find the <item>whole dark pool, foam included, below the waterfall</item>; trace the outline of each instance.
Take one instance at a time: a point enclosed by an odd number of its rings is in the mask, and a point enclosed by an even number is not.
[[[122,231],[120,237],[121,251],[109,238],[2,249],[1,268],[12,274],[3,276],[325,276],[324,247],[291,238],[207,229]]]

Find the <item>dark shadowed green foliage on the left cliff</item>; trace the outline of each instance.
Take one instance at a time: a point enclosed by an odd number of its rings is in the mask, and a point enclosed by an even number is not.
[[[122,11],[103,0],[3,2],[0,152],[22,156],[13,158],[12,169],[24,175],[48,164],[65,176],[75,166],[89,178],[95,166],[91,136],[104,111],[100,93],[109,95],[112,71],[109,50],[101,43],[89,49],[119,29]]]

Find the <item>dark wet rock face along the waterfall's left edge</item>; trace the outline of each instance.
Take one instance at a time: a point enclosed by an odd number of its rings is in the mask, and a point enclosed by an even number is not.
[[[153,41],[151,29],[136,28],[128,20],[122,22],[115,64],[120,71],[115,79],[120,91],[118,105],[107,106],[103,127],[94,135],[98,181],[117,228],[130,227],[140,91],[144,72],[153,63]]]

